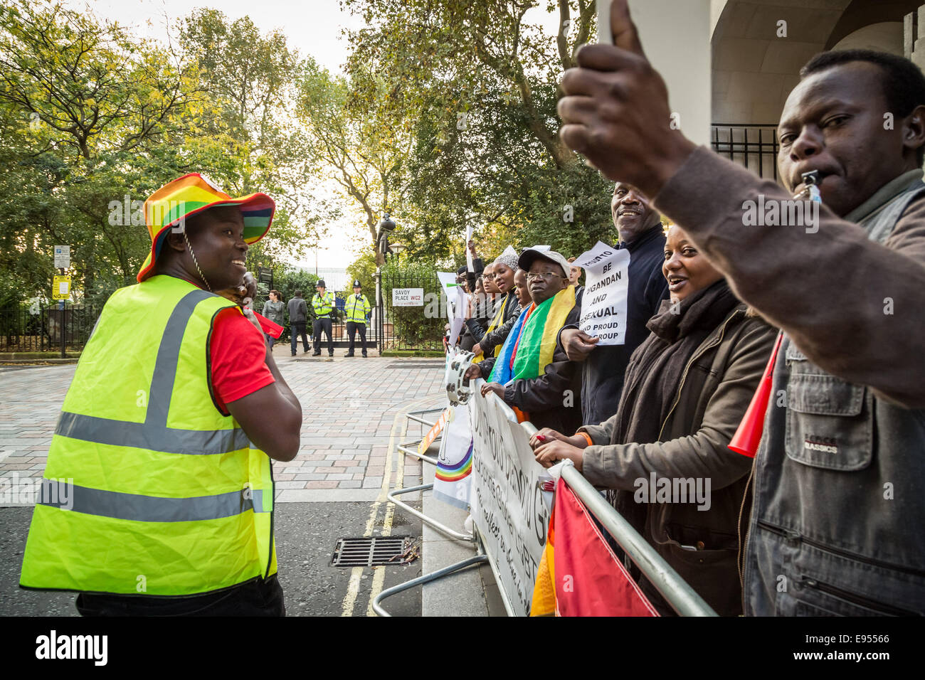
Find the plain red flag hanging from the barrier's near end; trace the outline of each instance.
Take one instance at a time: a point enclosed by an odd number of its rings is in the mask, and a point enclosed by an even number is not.
[[[556,485],[554,510],[557,613],[658,616],[564,479]]]

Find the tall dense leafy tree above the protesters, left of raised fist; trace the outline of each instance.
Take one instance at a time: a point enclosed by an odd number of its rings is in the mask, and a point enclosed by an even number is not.
[[[388,74],[388,110],[413,125],[399,216],[410,254],[461,261],[472,222],[484,225],[487,256],[507,242],[577,254],[612,238],[610,186],[561,142],[556,115],[561,73],[594,30],[593,2],[549,2],[555,37],[525,20],[538,6],[529,0],[345,5],[367,22],[351,33],[349,66]]]

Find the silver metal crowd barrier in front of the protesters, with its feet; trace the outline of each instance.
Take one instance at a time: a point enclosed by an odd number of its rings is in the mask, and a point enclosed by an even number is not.
[[[481,378],[475,381],[473,385],[473,399],[482,398],[481,396],[478,396],[478,393],[479,388],[484,382],[485,381]],[[489,394],[487,398],[498,400],[497,403],[499,404],[499,407],[504,410],[508,419],[512,422],[517,421],[517,417],[513,413],[511,407],[504,403],[498,397],[498,395]],[[425,411],[413,411],[406,414],[406,417],[409,420],[421,423],[426,427],[433,427],[434,423],[425,420],[421,416],[424,414],[440,413],[442,411],[442,408],[427,409]],[[532,437],[536,434],[536,427],[534,427],[533,423],[526,421],[520,425],[524,428],[528,437]],[[416,447],[416,444],[419,444],[422,439],[418,439],[415,442],[401,444],[398,446],[398,449],[407,455],[412,455],[415,458],[418,458],[429,464],[436,465],[436,459],[431,456],[421,455],[416,448],[412,448]],[[435,439],[435,441],[438,440],[439,438]],[[561,477],[565,480],[569,487],[572,488],[575,496],[577,496],[578,499],[585,504],[585,507],[588,509],[588,511],[598,519],[598,522],[603,525],[611,537],[613,537],[617,544],[623,549],[630,560],[632,560],[633,563],[639,567],[639,570],[644,575],[646,575],[646,578],[648,578],[649,582],[659,591],[660,595],[665,599],[665,601],[668,602],[668,604],[675,612],[677,612],[680,616],[718,615],[713,611],[709,604],[703,600],[703,598],[697,595],[697,593],[694,591],[694,588],[690,587],[685,582],[685,580],[680,575],[678,575],[674,569],[672,569],[671,565],[665,562],[660,554],[648,544],[648,541],[643,538],[635,530],[635,528],[633,528],[633,526],[630,525],[629,522],[627,522],[623,516],[611,506],[609,502],[607,502],[607,500],[601,495],[598,489],[594,488],[594,486],[575,469],[573,464],[565,464],[562,466]],[[450,564],[449,566],[439,569],[436,572],[432,572],[431,574],[421,575],[406,583],[402,583],[398,586],[383,590],[376,596],[375,600],[373,600],[373,610],[380,616],[389,616],[388,612],[382,608],[382,600],[385,600],[392,595],[396,595],[403,590],[407,590],[408,588],[423,586],[425,583],[435,581],[438,578],[453,574],[475,564],[488,563],[491,566],[492,573],[495,575],[496,582],[499,584],[499,591],[501,593],[501,600],[504,602],[504,608],[509,616],[512,615],[509,598],[507,594],[503,592],[503,588],[500,586],[501,581],[495,567],[496,561],[492,559],[492,556],[487,553],[485,545],[479,534],[477,525],[474,525],[473,527],[473,534],[461,534],[454,531],[449,526],[442,525],[436,520],[427,517],[424,513],[420,513],[410,505],[407,505],[406,503],[403,503],[396,498],[396,496],[400,496],[403,493],[425,491],[433,488],[433,486],[433,484],[425,484],[418,487],[395,489],[394,491],[388,493],[388,501],[395,503],[402,510],[408,513],[412,513],[414,516],[421,519],[422,522],[433,526],[441,533],[450,536],[450,538],[475,542],[476,554],[475,556],[467,558],[462,562]]]

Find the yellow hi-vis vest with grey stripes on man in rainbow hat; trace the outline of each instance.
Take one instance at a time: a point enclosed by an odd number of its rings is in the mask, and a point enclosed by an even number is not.
[[[35,507],[20,586],[192,595],[277,572],[271,461],[209,381],[212,322],[229,306],[166,276],[106,303],[48,453],[58,493]]]

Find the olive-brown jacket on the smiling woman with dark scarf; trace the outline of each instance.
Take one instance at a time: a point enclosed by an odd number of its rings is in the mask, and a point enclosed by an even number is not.
[[[742,612],[737,555],[752,465],[728,444],[758,388],[775,336],[775,329],[746,315],[744,303],[737,305],[687,363],[660,441],[611,444],[616,416],[580,428],[595,443],[585,449],[587,480],[619,489],[617,509],[722,615]],[[664,482],[653,487],[653,473],[671,482],[675,502],[660,497]],[[687,502],[677,502],[681,490]],[[641,585],[660,612],[672,612],[645,579]]]

